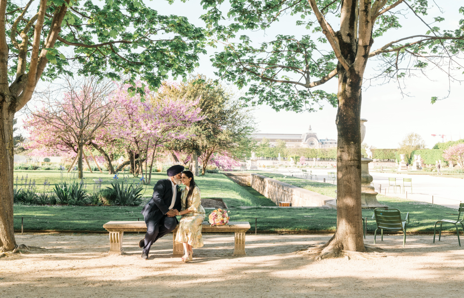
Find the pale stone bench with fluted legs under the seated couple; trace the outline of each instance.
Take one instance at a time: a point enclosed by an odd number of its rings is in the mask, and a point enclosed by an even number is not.
[[[107,222],[103,225],[110,232],[110,254],[122,254],[122,238],[124,232],[147,232],[145,222]],[[249,222],[229,222],[228,225],[211,226],[209,222],[203,222],[201,231],[205,233],[235,233],[235,247],[233,255],[244,255],[245,253],[245,232],[250,229]],[[180,257],[184,253],[182,243],[174,241],[177,228],[173,231],[173,256]]]

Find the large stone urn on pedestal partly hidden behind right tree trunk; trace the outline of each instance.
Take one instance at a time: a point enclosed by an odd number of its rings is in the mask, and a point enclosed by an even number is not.
[[[361,119],[361,143],[364,141],[364,136],[366,135],[364,122],[367,122],[367,120]],[[363,209],[386,207],[377,201],[378,192],[375,191],[374,186],[371,185],[374,178],[369,174],[369,163],[372,161],[374,160],[365,158],[364,155],[361,155],[361,208]]]

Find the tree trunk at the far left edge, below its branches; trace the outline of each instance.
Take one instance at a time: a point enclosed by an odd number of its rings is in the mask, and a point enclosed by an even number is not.
[[[6,73],[1,75],[6,78]],[[10,106],[13,99],[6,92],[3,92],[3,88],[0,90],[0,252],[13,250],[16,246],[13,229],[13,118],[15,110]]]

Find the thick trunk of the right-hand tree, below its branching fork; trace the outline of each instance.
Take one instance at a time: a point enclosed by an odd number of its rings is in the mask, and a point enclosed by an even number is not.
[[[362,72],[348,74],[339,63],[337,145],[337,229],[321,258],[340,250],[364,252],[361,222],[361,83]]]

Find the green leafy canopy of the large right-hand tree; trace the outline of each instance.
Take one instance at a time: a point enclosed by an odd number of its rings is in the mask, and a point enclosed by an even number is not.
[[[277,111],[285,109],[296,112],[315,111],[317,107],[321,109],[324,100],[334,107],[337,105],[334,93],[318,89],[318,86],[337,77],[336,66],[340,63],[328,45],[327,32],[323,32],[310,2],[201,1],[206,10],[202,19],[207,24],[208,34],[213,37],[211,43],[220,50],[211,58],[217,69],[215,74],[233,82],[240,89],[247,87],[242,99],[248,104],[266,103]],[[401,82],[406,77],[436,68],[444,71],[450,82],[459,81],[457,75],[461,74],[463,65],[459,59],[462,58],[460,55],[464,47],[464,19],[459,21],[457,27],[450,28],[451,23],[441,23],[445,20],[440,13],[441,7],[431,10],[426,0],[373,0],[366,5],[374,13],[374,28],[369,35],[374,44],[380,46],[368,55],[378,60],[378,73],[371,80],[381,83],[393,80],[403,92]],[[316,0],[314,6],[317,6],[324,20],[329,20],[332,25],[340,24],[341,0]],[[438,15],[429,16],[431,11],[438,12]],[[459,13],[464,13],[464,6],[459,8]],[[292,32],[293,26],[289,27],[287,34],[279,34],[259,44],[245,35],[259,30],[269,33],[274,23],[281,30],[287,25],[289,17],[297,26],[304,28],[301,36]],[[401,28],[401,21],[406,18],[412,19],[414,25],[409,30],[398,31],[401,33],[397,35],[404,36],[396,36],[386,43],[385,33]],[[355,34],[361,34],[362,24],[358,24],[358,20],[354,23],[355,26],[359,25],[359,31],[355,30]],[[439,23],[448,28],[438,27]],[[337,38],[341,37],[340,31],[334,34]],[[343,46],[347,45],[339,46],[343,52]],[[439,99],[432,96],[431,101],[434,103]]]

